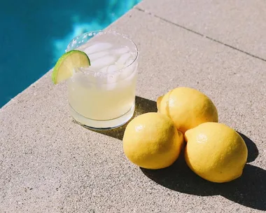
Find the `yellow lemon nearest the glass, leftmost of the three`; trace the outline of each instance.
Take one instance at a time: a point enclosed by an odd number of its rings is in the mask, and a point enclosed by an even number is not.
[[[146,169],[169,167],[179,157],[183,134],[173,121],[158,113],[147,113],[134,118],[127,125],[123,137],[125,156]]]

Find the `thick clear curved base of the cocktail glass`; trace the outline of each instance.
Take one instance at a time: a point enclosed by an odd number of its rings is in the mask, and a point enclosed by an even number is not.
[[[92,120],[90,118],[86,118],[78,112],[76,112],[70,105],[69,105],[69,111],[72,116],[72,118],[80,125],[82,125],[85,128],[89,128],[92,130],[109,130],[113,128],[118,128],[121,125],[127,123],[127,121],[130,121],[130,118],[132,118],[135,110],[135,104],[131,107],[127,113],[123,114],[123,116],[120,116],[118,118],[114,118],[112,120],[107,121],[99,121],[99,120]]]

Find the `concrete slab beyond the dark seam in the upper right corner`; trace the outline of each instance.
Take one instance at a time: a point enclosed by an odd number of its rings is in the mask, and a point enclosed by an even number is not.
[[[137,8],[266,60],[264,0],[144,0]]]

